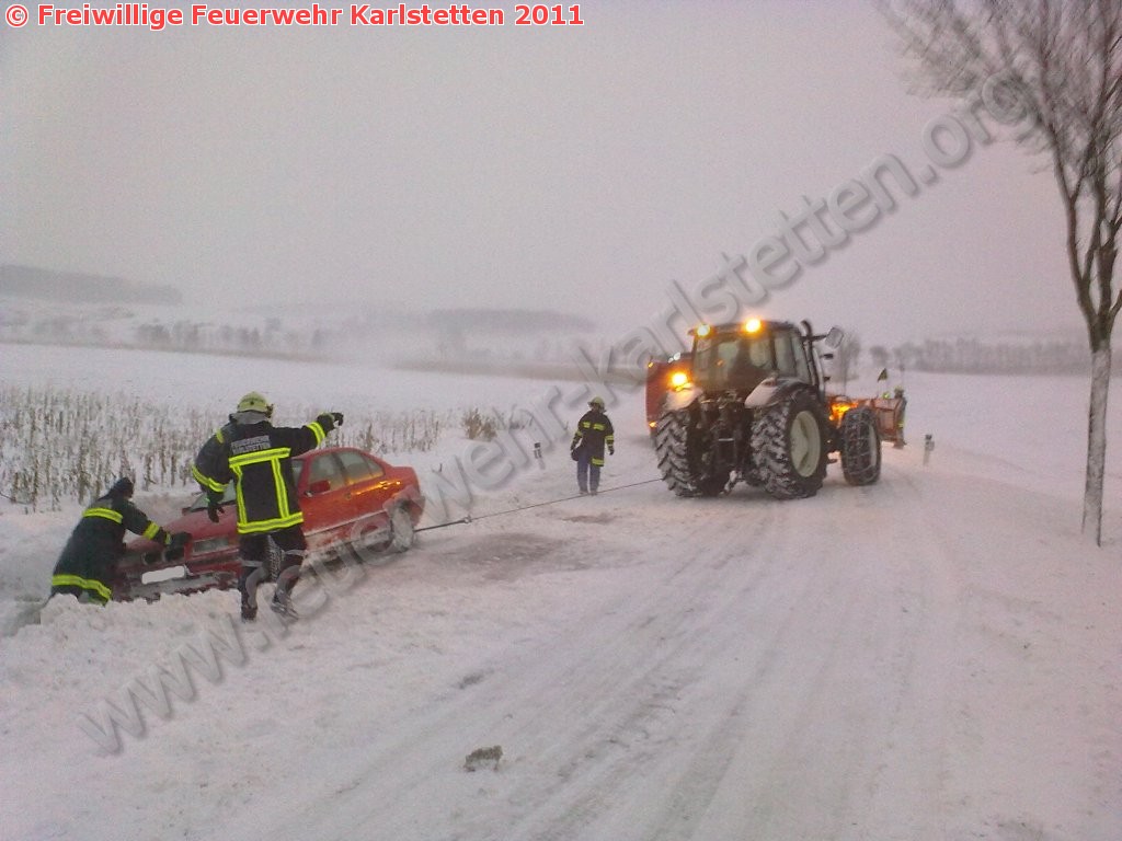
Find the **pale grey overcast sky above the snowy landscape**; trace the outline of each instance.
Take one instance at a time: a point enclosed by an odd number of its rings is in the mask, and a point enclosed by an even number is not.
[[[4,25],[0,262],[215,307],[555,308],[623,333],[894,155],[914,195],[866,203],[764,314],[866,346],[1078,335],[1046,161],[975,145],[922,183],[953,103],[908,93],[866,2],[591,0],[579,27],[496,3],[504,26],[470,28],[321,6],[338,26]]]

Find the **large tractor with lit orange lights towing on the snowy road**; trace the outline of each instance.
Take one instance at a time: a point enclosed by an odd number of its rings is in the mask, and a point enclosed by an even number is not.
[[[835,452],[849,484],[880,479],[873,409],[827,396],[821,363],[840,330],[818,335],[806,321],[751,318],[690,333],[688,381],[666,391],[654,428],[659,469],[678,496],[745,482],[776,499],[812,497]]]

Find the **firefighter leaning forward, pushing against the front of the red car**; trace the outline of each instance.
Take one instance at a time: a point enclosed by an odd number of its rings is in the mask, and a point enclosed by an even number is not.
[[[117,560],[125,554],[125,533],[141,535],[168,548],[182,548],[186,532],[174,535],[132,505],[132,480],[121,477],[82,512],[50,576],[50,594],[70,594],[81,602],[104,604],[113,594]]]

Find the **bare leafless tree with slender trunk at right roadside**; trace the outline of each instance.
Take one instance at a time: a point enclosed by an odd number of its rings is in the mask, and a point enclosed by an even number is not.
[[[1018,109],[1049,158],[1091,343],[1083,532],[1102,545],[1111,332],[1122,228],[1122,0],[880,0],[930,91]]]

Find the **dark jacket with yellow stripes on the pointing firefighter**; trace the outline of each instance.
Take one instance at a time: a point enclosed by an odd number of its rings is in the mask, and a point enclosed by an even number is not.
[[[276,532],[304,521],[296,498],[292,456],[319,446],[334,428],[331,415],[320,415],[304,426],[277,427],[268,420],[246,423],[231,416],[195,458],[192,474],[210,495],[221,500],[226,486],[236,481],[238,534]]]

